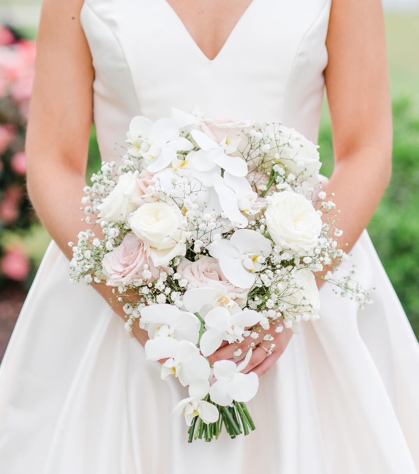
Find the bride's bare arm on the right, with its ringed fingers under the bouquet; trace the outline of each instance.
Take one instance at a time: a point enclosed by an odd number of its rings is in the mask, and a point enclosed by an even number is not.
[[[341,211],[338,227],[344,231],[339,242],[348,244],[347,251],[370,221],[391,175],[391,101],[381,1],[333,0],[326,46],[335,169],[325,191],[335,193],[333,201]],[[272,335],[272,355],[256,348],[247,371],[264,374],[284,352],[291,332]],[[238,347],[244,351],[251,341],[247,338]],[[234,350],[234,344],[224,346],[209,358],[229,359]]]

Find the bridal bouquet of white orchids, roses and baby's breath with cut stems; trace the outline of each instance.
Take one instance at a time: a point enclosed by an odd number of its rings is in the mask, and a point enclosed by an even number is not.
[[[223,425],[246,435],[258,376],[242,371],[253,349],[272,353],[274,333],[318,319],[313,272],[371,302],[353,273],[324,271],[346,255],[317,146],[279,123],[177,109],[133,118],[127,137],[123,164],[103,162],[84,189],[84,220],[101,230],[69,243],[71,279],[114,287],[126,330],[148,331],[147,359],[188,387],[173,415],[184,414],[189,442],[218,438]],[[223,341],[234,359],[210,364]]]

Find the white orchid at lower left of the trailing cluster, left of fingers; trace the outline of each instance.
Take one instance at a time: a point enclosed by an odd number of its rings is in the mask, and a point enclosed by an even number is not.
[[[208,380],[211,368],[199,349],[189,341],[177,341],[173,337],[162,336],[149,339],[144,346],[148,360],[166,359],[161,366],[161,378],[167,380],[175,375],[186,385],[198,379]]]

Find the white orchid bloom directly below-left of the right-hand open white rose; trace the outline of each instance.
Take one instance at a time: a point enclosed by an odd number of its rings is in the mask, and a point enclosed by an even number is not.
[[[255,283],[271,250],[270,241],[251,229],[236,230],[230,240],[222,239],[208,248],[227,280],[239,288],[250,288]]]

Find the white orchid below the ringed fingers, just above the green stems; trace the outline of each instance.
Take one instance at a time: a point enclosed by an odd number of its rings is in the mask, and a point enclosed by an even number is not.
[[[259,378],[254,373],[242,374],[251,358],[251,349],[239,365],[231,360],[214,362],[214,377],[217,379],[209,389],[211,400],[223,407],[234,401],[249,401],[258,391]]]

